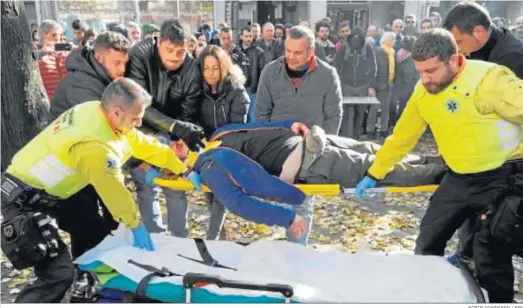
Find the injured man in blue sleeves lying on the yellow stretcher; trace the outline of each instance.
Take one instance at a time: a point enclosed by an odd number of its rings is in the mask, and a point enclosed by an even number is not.
[[[256,223],[289,228],[300,236],[304,225],[292,205],[302,204],[305,194],[292,184],[352,188],[372,164],[379,145],[282,121],[224,126],[200,154],[188,152],[183,141],[174,148],[181,159],[188,156],[188,165],[229,211]],[[437,184],[445,170],[438,157],[411,155],[380,184]]]

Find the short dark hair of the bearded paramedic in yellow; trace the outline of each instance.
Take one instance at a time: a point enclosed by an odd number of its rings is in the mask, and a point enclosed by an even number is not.
[[[426,61],[438,57],[448,63],[450,57],[458,53],[458,44],[448,30],[434,28],[421,34],[412,48],[414,61]]]

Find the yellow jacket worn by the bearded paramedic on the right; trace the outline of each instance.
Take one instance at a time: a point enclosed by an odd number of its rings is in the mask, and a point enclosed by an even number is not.
[[[430,126],[449,168],[478,173],[523,157],[523,81],[504,66],[466,60],[437,94],[420,81],[368,173],[383,179]]]

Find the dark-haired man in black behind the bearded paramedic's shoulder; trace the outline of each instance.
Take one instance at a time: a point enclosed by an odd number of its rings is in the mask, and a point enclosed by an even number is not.
[[[481,5],[457,4],[445,17],[443,28],[452,32],[460,52],[468,58],[504,65],[523,78],[523,42],[509,30],[495,26]],[[475,220],[471,217],[458,230],[459,248],[449,256],[452,263],[472,257]]]

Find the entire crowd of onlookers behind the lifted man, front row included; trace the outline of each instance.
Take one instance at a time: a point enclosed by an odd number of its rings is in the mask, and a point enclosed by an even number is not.
[[[472,20],[473,14],[466,21],[490,33],[483,43],[491,34],[502,37],[509,31],[491,27],[490,17],[477,8],[464,9],[479,12],[474,16],[488,22],[483,26]],[[520,33],[522,19],[512,36]],[[293,119],[327,134],[378,139],[390,134],[419,80],[411,57],[417,36],[434,27],[449,28],[442,23],[433,13],[422,21],[408,15],[386,29],[371,25],[366,31],[348,22],[334,29],[324,18],[312,26],[307,21],[297,26],[252,23],[237,31],[226,24],[203,24],[194,33],[173,19],[160,27],[109,24],[97,34],[75,20],[74,40],[67,42],[61,25],[45,20],[34,35],[34,54],[51,102],[51,120],[74,105],[100,100],[109,83],[125,76],[151,94],[144,122],[157,131],[161,125],[156,124],[165,118],[199,125],[207,137],[226,124]],[[355,98],[373,103],[355,104]],[[178,128],[184,129],[181,123]],[[127,165],[148,230],[187,236],[185,193],[163,188],[165,227],[160,188],[152,181],[158,170],[134,160]],[[301,215],[311,218],[312,206],[304,208]],[[222,230],[225,208],[211,197],[209,209],[207,238],[213,239]]]

